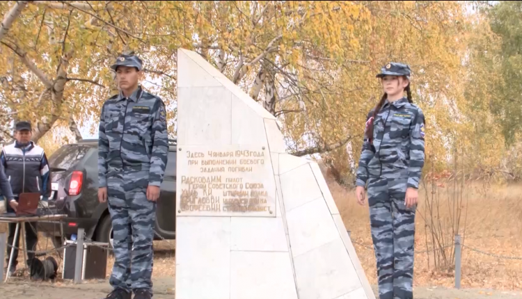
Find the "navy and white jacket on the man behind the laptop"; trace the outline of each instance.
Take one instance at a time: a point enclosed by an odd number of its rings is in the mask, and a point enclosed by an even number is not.
[[[32,141],[22,146],[15,142],[3,147],[0,162],[17,200],[20,193],[40,193],[44,200],[51,193],[49,165],[42,147]]]

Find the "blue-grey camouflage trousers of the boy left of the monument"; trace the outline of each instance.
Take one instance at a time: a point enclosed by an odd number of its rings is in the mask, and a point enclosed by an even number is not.
[[[115,257],[109,283],[127,292],[148,289],[152,295],[156,203],[147,200],[148,171],[119,172],[107,178],[107,187]]]

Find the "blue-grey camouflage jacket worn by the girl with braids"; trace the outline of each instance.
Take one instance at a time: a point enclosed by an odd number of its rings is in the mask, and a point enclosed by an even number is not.
[[[422,110],[405,97],[392,104],[386,100],[374,120],[373,137],[363,141],[356,186],[366,186],[368,177],[407,178],[407,187],[418,188],[424,166],[425,119]]]

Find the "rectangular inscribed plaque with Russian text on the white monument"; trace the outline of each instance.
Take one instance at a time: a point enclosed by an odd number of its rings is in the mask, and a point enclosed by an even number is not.
[[[276,217],[276,182],[265,147],[182,146],[177,170],[176,216]]]

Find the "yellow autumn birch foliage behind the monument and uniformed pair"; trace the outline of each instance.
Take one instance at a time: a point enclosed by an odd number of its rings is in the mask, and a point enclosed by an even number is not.
[[[1,1],[5,16],[15,1]],[[29,119],[35,140],[53,127],[94,123],[116,92],[122,51],[145,63],[175,134],[176,50],[198,51],[283,122],[289,152],[318,153],[353,179],[367,112],[389,61],[413,70],[427,120],[426,171],[466,163],[502,173],[505,145],[486,100],[503,85],[498,37],[465,1],[37,1],[0,40],[0,130]],[[495,48],[497,47],[497,48]],[[484,54],[487,49],[488,54]],[[54,138],[48,138],[53,140]],[[519,140],[519,139],[517,139]],[[349,148],[349,150],[347,150]]]

